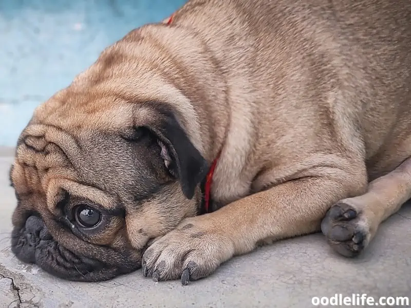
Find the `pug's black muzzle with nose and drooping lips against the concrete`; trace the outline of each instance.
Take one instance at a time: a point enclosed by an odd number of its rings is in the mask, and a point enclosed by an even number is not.
[[[107,264],[86,253],[74,252],[76,249],[68,249],[55,241],[42,220],[34,216],[27,219],[25,226],[13,229],[11,249],[18,260],[36,264],[53,276],[71,281],[104,281],[141,268],[140,260],[131,261],[128,256]],[[107,250],[110,254],[110,248]]]

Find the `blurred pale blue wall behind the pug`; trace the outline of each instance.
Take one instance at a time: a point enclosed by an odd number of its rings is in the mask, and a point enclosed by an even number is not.
[[[185,0],[0,0],[0,145],[108,45]]]

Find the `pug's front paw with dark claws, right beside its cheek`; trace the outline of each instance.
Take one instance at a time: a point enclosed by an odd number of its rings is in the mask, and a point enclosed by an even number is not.
[[[184,220],[176,229],[155,240],[143,254],[145,277],[155,281],[181,278],[186,285],[212,274],[234,255],[232,242],[218,234],[203,216]]]

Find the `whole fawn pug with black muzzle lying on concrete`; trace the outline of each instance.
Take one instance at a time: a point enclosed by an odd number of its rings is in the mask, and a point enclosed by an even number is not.
[[[40,105],[10,172],[12,251],[183,284],[322,230],[356,256],[411,196],[411,2],[193,0]],[[220,157],[197,216],[199,183]]]

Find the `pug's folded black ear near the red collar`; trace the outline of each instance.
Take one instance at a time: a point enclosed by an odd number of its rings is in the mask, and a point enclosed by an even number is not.
[[[158,137],[165,164],[175,169],[172,172],[180,180],[185,197],[192,199],[196,186],[207,175],[208,163],[191,143],[173,112],[161,110],[159,115],[158,123],[147,128]]]

